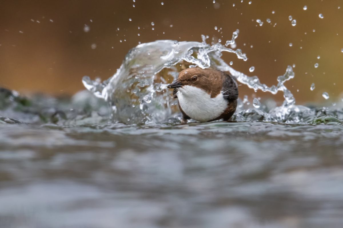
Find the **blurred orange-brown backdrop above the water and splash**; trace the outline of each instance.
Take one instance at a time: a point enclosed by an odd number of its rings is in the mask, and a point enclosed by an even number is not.
[[[84,89],[85,75],[111,77],[139,43],[201,41],[203,34],[225,44],[239,29],[237,48],[249,59],[223,53],[232,67],[270,86],[293,65],[295,78],[286,86],[298,104],[323,102],[323,92],[333,102],[342,96],[341,7],[338,0],[2,1],[0,86],[71,95]],[[240,89],[240,96],[253,93]]]

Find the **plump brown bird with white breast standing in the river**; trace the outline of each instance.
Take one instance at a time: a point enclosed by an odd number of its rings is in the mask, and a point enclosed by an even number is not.
[[[174,88],[173,95],[179,101],[182,123],[187,123],[188,119],[199,122],[227,121],[236,111],[238,86],[223,71],[185,69],[167,88]]]

